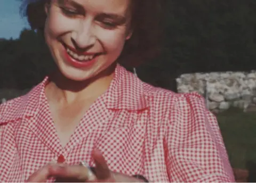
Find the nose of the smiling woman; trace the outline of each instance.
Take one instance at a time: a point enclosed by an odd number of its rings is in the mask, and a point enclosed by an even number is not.
[[[77,48],[85,49],[95,44],[96,37],[93,35],[92,29],[91,21],[79,21],[71,35],[71,39]]]

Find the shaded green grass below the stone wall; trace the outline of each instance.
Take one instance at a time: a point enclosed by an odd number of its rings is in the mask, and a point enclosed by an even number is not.
[[[256,112],[232,108],[217,114],[217,118],[232,167],[256,165]]]

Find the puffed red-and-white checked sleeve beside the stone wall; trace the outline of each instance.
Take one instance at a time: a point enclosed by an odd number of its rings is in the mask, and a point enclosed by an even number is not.
[[[217,119],[199,94],[178,94],[166,128],[171,182],[235,182]]]

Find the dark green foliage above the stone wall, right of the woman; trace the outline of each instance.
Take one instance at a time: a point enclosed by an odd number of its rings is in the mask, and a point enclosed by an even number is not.
[[[169,0],[166,12],[162,55],[138,69],[143,80],[175,90],[182,73],[256,69],[254,0]]]

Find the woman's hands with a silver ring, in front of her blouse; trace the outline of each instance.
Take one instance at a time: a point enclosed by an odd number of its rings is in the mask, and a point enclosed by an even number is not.
[[[94,175],[90,173],[89,168],[81,165],[49,164],[33,173],[27,182],[46,182],[49,177],[84,182],[143,182],[141,179],[110,171],[98,150],[95,150],[92,156],[96,165]]]

